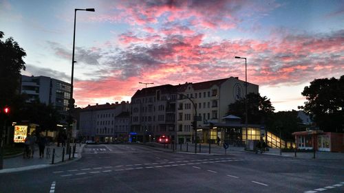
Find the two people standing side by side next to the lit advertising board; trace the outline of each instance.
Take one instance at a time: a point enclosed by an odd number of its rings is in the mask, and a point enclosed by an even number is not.
[[[44,135],[39,133],[38,137],[34,135],[34,132],[28,134],[28,137],[25,138],[25,153],[24,153],[24,158],[32,158],[34,157],[34,144],[38,144],[39,146],[39,158],[44,157],[44,150],[45,150],[45,145],[47,144],[47,139]]]

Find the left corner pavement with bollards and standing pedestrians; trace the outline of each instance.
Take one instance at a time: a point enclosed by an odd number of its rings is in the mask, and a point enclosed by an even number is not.
[[[73,147],[74,144],[71,144]],[[44,158],[39,158],[39,148],[36,146],[34,150],[34,157],[30,159],[23,159],[23,154],[18,155],[16,157],[10,157],[3,159],[3,169],[0,170],[1,173],[8,173],[8,172],[19,172],[25,170],[32,170],[36,168],[45,168],[50,166],[55,166],[56,164],[61,163],[68,163],[70,161],[76,161],[77,159],[81,158],[81,152],[83,151],[85,144],[76,144],[76,151],[73,155],[71,154],[70,159],[69,155],[65,155],[63,157],[63,147],[57,147],[56,144],[52,144],[51,146],[45,146],[44,151]],[[50,149],[50,157],[47,157],[47,149]],[[54,164],[52,164],[52,153],[55,149],[55,156],[54,156]],[[73,148],[72,148],[73,152]],[[63,161],[62,161],[63,159]]]

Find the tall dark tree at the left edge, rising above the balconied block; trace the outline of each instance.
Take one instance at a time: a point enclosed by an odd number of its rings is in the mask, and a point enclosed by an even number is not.
[[[0,32],[0,106],[10,105],[20,86],[21,69],[25,70],[23,48],[12,37],[2,41]]]

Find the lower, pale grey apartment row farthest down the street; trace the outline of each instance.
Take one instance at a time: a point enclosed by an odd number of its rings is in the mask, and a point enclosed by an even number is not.
[[[128,112],[129,102],[125,101],[89,105],[80,110],[78,137],[98,142],[124,139],[129,132]]]

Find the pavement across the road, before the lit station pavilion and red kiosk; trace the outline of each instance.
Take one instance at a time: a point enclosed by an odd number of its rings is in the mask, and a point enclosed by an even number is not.
[[[147,143],[149,146],[154,146],[155,148],[162,148],[164,149],[164,144],[157,144],[157,143]],[[168,148],[167,145],[165,145],[166,150],[171,150],[171,144],[169,144]],[[233,151],[239,151],[239,152],[247,152],[255,154],[255,152],[252,151],[246,151],[244,150],[244,147],[233,147],[230,146],[226,152],[220,144],[217,146],[216,144],[211,144],[211,155],[233,155]],[[187,151],[186,151],[186,144],[182,144],[182,150],[180,150],[180,144],[177,144],[177,148],[175,152],[179,153],[192,153],[195,154],[195,144],[188,144],[187,145]],[[209,146],[208,144],[201,144],[201,151],[200,151],[200,145],[197,144],[197,154],[198,155],[209,155]],[[260,154],[260,153],[259,153]],[[297,152],[297,157],[295,157],[294,152],[282,152],[282,155],[280,155],[279,149],[272,149],[270,148],[269,151],[263,152],[265,155],[275,155],[275,156],[283,156],[283,157],[293,157],[297,159],[314,159],[314,153],[313,152]],[[344,153],[342,152],[320,152],[317,151],[315,153],[315,159],[318,160],[338,160],[338,161],[344,161]]]

